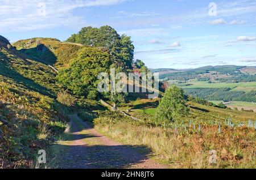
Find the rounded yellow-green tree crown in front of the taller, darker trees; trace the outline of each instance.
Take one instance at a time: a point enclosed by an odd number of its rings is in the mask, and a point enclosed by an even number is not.
[[[115,58],[104,48],[83,48],[68,68],[59,71],[57,79],[75,95],[97,97],[98,74],[109,72]]]

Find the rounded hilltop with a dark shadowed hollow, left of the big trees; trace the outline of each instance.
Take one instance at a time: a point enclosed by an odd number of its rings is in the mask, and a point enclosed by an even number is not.
[[[31,38],[14,42],[13,46],[35,61],[40,61],[57,68],[67,67],[77,51],[84,46],[61,42],[56,38]]]

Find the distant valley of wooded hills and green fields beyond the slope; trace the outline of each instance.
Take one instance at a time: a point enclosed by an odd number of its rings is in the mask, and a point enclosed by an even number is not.
[[[205,66],[191,70],[159,69],[163,82],[176,84],[205,100],[256,101],[255,67]]]

